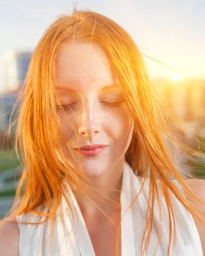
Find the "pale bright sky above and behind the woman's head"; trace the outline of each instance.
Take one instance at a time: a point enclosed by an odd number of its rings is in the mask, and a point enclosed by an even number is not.
[[[205,77],[205,0],[0,0],[0,91],[3,54],[33,51],[59,15],[91,9],[122,26],[144,57],[151,78]]]

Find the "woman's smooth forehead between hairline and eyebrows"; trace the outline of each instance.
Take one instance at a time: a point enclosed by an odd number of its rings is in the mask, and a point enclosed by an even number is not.
[[[58,87],[68,90],[100,90],[110,84],[118,84],[109,58],[98,44],[75,40],[67,41],[56,58]]]

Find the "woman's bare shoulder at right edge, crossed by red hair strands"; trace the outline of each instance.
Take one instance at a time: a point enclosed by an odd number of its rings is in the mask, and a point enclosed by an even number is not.
[[[188,185],[193,192],[194,195],[198,196],[199,199],[205,203],[205,180],[202,179],[185,179],[184,180],[186,185]],[[205,212],[205,206],[200,208],[202,211]],[[205,215],[200,214],[201,218],[205,221]],[[201,239],[203,252],[205,253],[205,226],[197,221],[194,217],[193,220],[196,224],[196,228],[199,233],[199,237]]]

